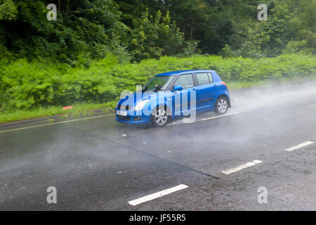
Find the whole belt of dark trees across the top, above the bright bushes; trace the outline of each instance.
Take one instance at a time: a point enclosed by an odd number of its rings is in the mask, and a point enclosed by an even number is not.
[[[48,4],[58,9],[48,21]],[[258,21],[258,4],[268,20]],[[0,0],[1,58],[70,65],[194,53],[261,57],[315,53],[315,0]]]

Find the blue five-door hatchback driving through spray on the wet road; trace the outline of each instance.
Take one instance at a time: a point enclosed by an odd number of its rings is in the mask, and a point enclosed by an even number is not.
[[[213,70],[182,70],[155,75],[141,89],[121,96],[117,122],[164,127],[179,117],[230,108],[228,87]]]

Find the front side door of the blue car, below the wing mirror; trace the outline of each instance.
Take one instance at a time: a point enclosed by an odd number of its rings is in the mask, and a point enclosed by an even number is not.
[[[195,90],[195,82],[193,79],[193,75],[186,74],[180,75],[173,86],[183,86],[182,91],[173,91],[173,112],[176,116],[180,115],[190,115],[190,110],[195,109],[195,93],[192,93]]]

